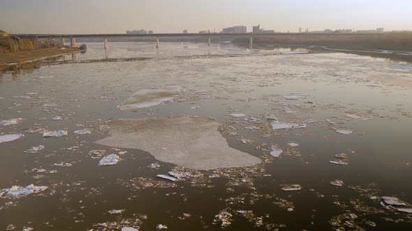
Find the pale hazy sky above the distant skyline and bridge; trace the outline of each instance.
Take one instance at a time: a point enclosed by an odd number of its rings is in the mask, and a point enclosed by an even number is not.
[[[13,33],[251,31],[255,24],[282,32],[412,30],[412,0],[0,0],[0,29]]]

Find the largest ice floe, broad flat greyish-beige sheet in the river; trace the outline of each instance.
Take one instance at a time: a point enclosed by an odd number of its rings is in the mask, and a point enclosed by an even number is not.
[[[208,170],[258,164],[260,159],[228,146],[210,118],[177,116],[112,120],[107,138],[96,143],[150,152],[159,161]]]

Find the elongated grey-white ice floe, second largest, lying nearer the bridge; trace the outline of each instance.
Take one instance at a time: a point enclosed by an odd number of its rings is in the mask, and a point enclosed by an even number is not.
[[[135,110],[156,106],[174,99],[182,92],[180,86],[167,86],[159,89],[141,89],[117,106],[120,110]]]

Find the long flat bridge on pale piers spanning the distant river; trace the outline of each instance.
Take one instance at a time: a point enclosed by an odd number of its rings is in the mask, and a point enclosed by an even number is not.
[[[66,38],[70,39],[71,46],[76,46],[76,38],[103,38],[104,48],[108,49],[108,38],[156,38],[156,48],[159,49],[160,38],[179,38],[179,37],[207,37],[207,45],[212,44],[212,37],[235,37],[235,38],[249,38],[250,47],[253,46],[253,38],[258,37],[277,37],[290,36],[291,38],[314,35],[328,35],[328,36],[363,36],[363,35],[383,35],[383,33],[100,33],[100,34],[13,34],[19,37],[43,38],[50,39],[54,44],[55,38],[60,38],[61,45],[66,45]]]

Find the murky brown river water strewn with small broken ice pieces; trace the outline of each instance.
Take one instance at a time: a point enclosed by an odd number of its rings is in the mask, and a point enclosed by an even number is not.
[[[412,216],[397,211],[412,207],[411,63],[303,48],[293,51],[309,53],[195,43],[161,43],[158,53],[154,43],[109,45],[105,51],[89,43],[85,54],[0,75],[0,120],[22,119],[0,126],[0,136],[24,134],[0,143],[0,189],[47,186],[26,196],[0,193],[1,230],[220,230],[214,219],[223,212],[226,230],[412,229]],[[138,90],[167,86],[184,90],[158,106],[117,108]],[[109,136],[110,120],[170,116],[211,117],[230,148],[262,162],[193,170],[138,148],[96,143]],[[275,130],[268,116],[307,126]],[[258,129],[245,129],[252,126]],[[73,134],[82,129],[91,134]],[[43,137],[54,130],[68,134]],[[159,145],[165,139],[159,136]],[[24,152],[38,145],[44,149]],[[272,145],[284,152],[272,157]],[[341,153],[347,165],[331,164]],[[98,166],[108,154],[121,160]],[[170,171],[186,177],[156,177]],[[301,189],[283,191],[289,184]],[[406,205],[389,207],[382,196]]]

